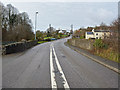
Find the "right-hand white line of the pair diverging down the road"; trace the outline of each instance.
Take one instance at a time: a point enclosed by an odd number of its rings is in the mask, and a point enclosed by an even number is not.
[[[53,47],[53,45],[52,45],[52,47]],[[62,70],[62,68],[61,68],[61,66],[60,66],[60,63],[59,63],[59,61],[58,61],[58,58],[57,58],[57,55],[56,55],[56,53],[55,53],[54,47],[53,47],[53,54],[55,55],[55,60],[56,60],[56,64],[57,64],[58,70],[59,70],[60,73],[62,74],[61,77],[64,79],[64,81],[63,81],[63,83],[64,83],[63,86],[64,86],[65,89],[69,90],[70,87],[69,87],[68,82],[67,82],[67,80],[66,80],[66,78],[65,78],[65,75],[64,75],[64,73],[63,73],[63,70]]]

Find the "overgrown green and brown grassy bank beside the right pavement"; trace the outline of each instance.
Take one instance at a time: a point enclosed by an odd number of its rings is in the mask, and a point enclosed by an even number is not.
[[[115,49],[113,46],[111,46],[110,43],[108,43],[108,41],[104,42],[104,40],[102,39],[96,39],[93,46],[94,54],[120,63],[120,55],[118,54],[117,48]]]

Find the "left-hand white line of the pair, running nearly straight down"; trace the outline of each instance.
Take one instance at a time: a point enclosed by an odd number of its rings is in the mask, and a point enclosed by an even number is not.
[[[55,81],[55,73],[53,67],[53,60],[52,60],[52,46],[50,45],[50,74],[51,74],[51,87],[52,89],[57,89],[57,84]]]

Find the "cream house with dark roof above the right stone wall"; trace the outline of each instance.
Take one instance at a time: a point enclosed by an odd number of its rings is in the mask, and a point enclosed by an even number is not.
[[[86,39],[104,39],[110,36],[110,32],[108,30],[92,30],[92,32],[86,32],[85,38]]]

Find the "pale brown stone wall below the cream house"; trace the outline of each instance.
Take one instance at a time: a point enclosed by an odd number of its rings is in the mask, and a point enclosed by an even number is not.
[[[94,46],[93,46],[94,40],[69,39],[68,43],[73,46],[80,47],[80,48],[87,49],[87,50],[92,50],[94,48]]]

